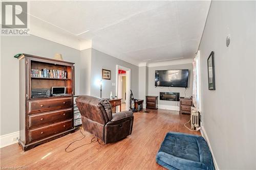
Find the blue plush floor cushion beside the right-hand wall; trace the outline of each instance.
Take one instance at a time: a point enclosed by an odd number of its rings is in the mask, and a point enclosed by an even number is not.
[[[215,169],[204,138],[184,133],[167,133],[156,161],[167,169]]]

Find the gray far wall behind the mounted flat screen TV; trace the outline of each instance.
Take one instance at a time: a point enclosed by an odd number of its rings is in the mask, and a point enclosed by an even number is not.
[[[180,96],[185,96],[185,88],[181,87],[155,87],[155,70],[166,69],[188,69],[188,88],[186,89],[186,96],[192,95],[193,90],[193,65],[192,64],[180,64],[169,66],[148,67],[148,95],[159,95],[161,92],[180,92]],[[159,108],[178,109],[177,102],[174,101],[160,101],[158,97]],[[161,106],[162,105],[162,106]],[[167,107],[165,107],[167,106]]]

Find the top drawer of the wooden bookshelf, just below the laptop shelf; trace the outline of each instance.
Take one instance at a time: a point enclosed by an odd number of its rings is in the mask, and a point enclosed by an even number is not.
[[[29,113],[73,107],[73,98],[39,99],[28,102]]]

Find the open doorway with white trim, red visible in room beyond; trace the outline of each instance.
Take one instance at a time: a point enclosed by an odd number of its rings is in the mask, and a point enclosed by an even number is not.
[[[129,110],[130,107],[130,81],[131,69],[117,65],[117,97],[122,99],[121,110]]]

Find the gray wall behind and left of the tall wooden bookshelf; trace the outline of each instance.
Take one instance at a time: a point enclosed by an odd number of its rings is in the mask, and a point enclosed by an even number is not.
[[[36,36],[1,36],[1,135],[19,131],[19,72],[13,56],[27,53],[75,63],[75,93],[80,91],[80,52]]]

